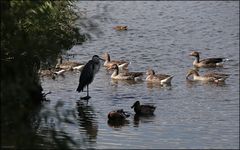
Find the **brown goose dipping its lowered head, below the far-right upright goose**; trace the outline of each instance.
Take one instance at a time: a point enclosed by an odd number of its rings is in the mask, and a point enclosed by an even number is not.
[[[223,73],[207,73],[203,76],[200,76],[197,70],[190,69],[186,75],[186,79],[188,79],[189,76],[193,75],[193,80],[195,81],[205,81],[205,82],[224,82],[229,75],[223,74]]]

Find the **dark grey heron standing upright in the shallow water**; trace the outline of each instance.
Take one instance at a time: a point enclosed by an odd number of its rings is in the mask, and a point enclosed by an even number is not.
[[[87,96],[81,97],[81,99],[88,100],[91,98],[88,92],[88,85],[92,83],[95,74],[100,69],[100,65],[101,65],[100,60],[103,60],[103,59],[100,58],[98,55],[94,55],[92,57],[92,60],[89,60],[88,63],[82,69],[77,91],[81,92],[87,86]]]

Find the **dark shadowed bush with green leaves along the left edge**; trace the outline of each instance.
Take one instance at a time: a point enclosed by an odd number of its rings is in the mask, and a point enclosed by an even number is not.
[[[85,36],[70,0],[3,0],[1,4],[1,139],[18,130],[43,100],[40,64],[57,56]],[[4,115],[3,115],[4,114]],[[30,125],[31,126],[31,125]],[[15,143],[19,145],[19,143]]]

